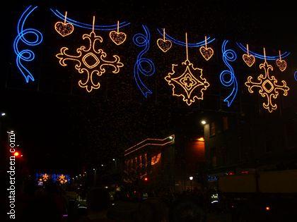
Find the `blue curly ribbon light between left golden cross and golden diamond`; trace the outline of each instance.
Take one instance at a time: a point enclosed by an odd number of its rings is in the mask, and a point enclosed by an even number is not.
[[[148,94],[152,94],[151,90],[146,87],[144,82],[142,82],[140,78],[140,74],[145,76],[151,76],[155,73],[155,65],[153,64],[153,61],[151,61],[150,58],[142,58],[142,56],[148,51],[149,49],[149,42],[151,41],[151,34],[148,30],[148,27],[146,25],[142,25],[145,35],[141,33],[137,33],[133,37],[133,42],[136,44],[137,47],[144,47],[144,49],[139,52],[136,63],[134,64],[134,80],[136,82],[137,87],[141,91],[141,93],[144,95],[144,97],[148,97]],[[144,64],[146,67],[144,67]]]

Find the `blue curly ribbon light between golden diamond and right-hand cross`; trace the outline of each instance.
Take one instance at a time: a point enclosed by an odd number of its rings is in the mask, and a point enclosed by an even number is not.
[[[220,80],[221,84],[224,87],[231,87],[233,86],[233,90],[231,94],[228,95],[223,101],[227,102],[228,107],[231,106],[233,100],[236,97],[236,94],[238,92],[238,83],[234,75],[234,70],[232,66],[228,63],[228,61],[235,61],[237,56],[235,54],[235,51],[232,49],[226,50],[226,44],[228,43],[228,40],[224,40],[222,44],[222,54],[223,54],[223,63],[228,67],[229,70],[223,70],[220,74]]]

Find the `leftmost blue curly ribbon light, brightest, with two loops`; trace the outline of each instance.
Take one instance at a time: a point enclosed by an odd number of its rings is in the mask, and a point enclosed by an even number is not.
[[[13,51],[16,54],[16,66],[18,67],[18,70],[22,73],[23,77],[25,78],[25,82],[29,82],[29,80],[34,81],[34,77],[32,73],[28,70],[28,68],[25,68],[23,66],[22,61],[33,61],[35,58],[35,54],[30,49],[23,49],[20,51],[18,49],[18,44],[23,42],[23,44],[26,44],[31,47],[35,47],[38,44],[42,42],[42,33],[38,30],[35,30],[33,28],[26,28],[24,30],[25,21],[27,20],[28,16],[37,8],[37,6],[28,6],[25,11],[23,11],[23,14],[21,15],[20,19],[18,20],[18,26],[17,31],[18,35],[13,41]],[[28,39],[28,35],[33,36],[34,38]]]

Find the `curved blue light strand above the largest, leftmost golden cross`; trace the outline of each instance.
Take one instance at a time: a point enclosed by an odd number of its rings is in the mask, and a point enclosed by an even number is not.
[[[60,13],[57,9],[50,8],[50,11],[52,11],[52,13],[54,13],[54,16],[57,16],[57,18],[64,21],[65,16],[62,13]],[[82,27],[82,28],[86,28],[88,30],[93,30],[92,24],[80,23],[77,20],[74,20],[74,19],[71,19],[68,17],[66,18],[66,22],[71,23],[72,25],[74,25],[76,27]],[[122,28],[122,27],[125,27],[130,24],[131,23],[128,23],[128,22],[122,22],[119,24],[119,27]],[[94,25],[94,30],[100,30],[100,31],[117,30],[117,24],[115,24],[115,25]]]

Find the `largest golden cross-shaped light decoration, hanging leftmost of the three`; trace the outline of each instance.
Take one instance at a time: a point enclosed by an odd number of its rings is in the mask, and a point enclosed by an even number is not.
[[[95,18],[93,18],[93,24]],[[111,66],[113,68],[112,73],[119,73],[120,68],[124,66],[120,62],[120,57],[117,55],[112,56],[113,61],[105,60],[107,54],[103,49],[98,49],[98,44],[103,42],[103,38],[99,35],[95,35],[94,30],[88,35],[84,34],[83,39],[88,42],[88,45],[81,46],[76,49],[77,55],[67,54],[68,48],[62,47],[60,53],[56,55],[59,58],[61,66],[67,66],[65,63],[67,60],[74,61],[76,63],[76,70],[78,73],[85,73],[86,80],[79,80],[78,85],[82,88],[86,88],[87,92],[91,92],[93,89],[100,87],[100,82],[95,77],[103,75],[105,73],[105,66]]]

